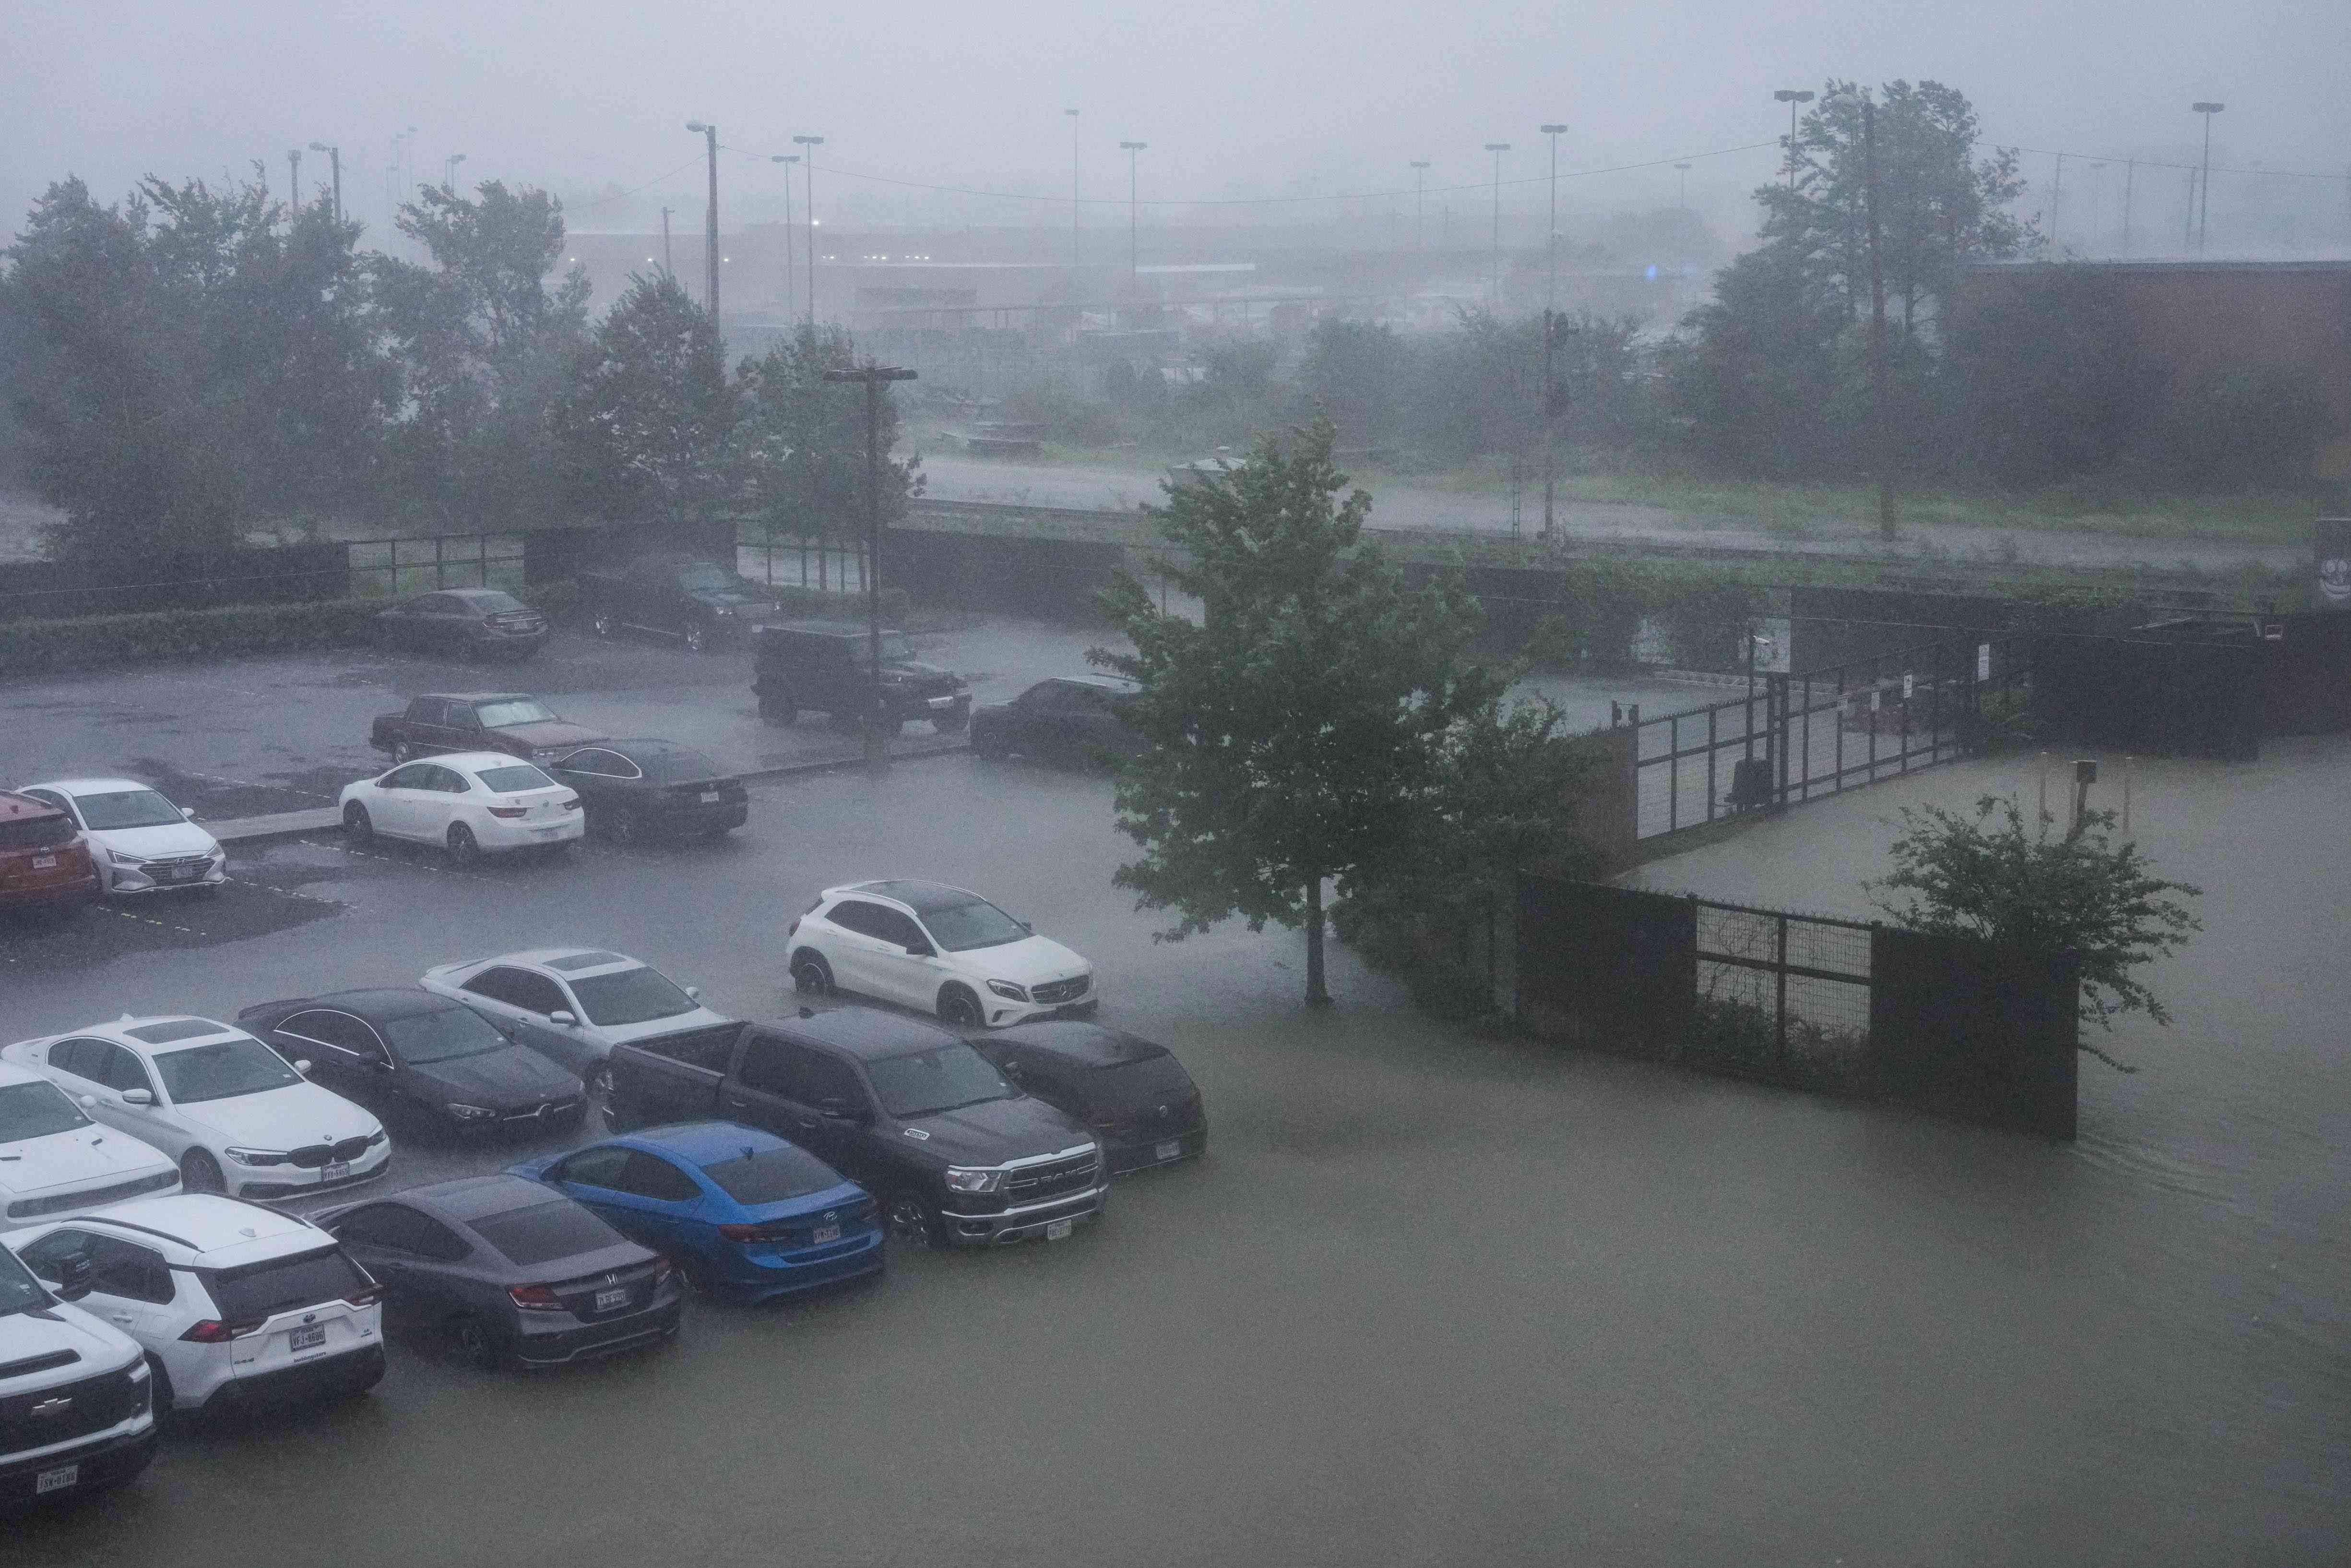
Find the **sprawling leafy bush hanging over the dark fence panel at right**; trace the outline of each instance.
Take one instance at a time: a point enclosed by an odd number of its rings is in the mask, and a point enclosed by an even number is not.
[[[2111,811],[2083,811],[2071,832],[2052,835],[2048,813],[2027,827],[2024,809],[1998,795],[1980,797],[1972,818],[1904,806],[1893,875],[1862,886],[1911,931],[2078,954],[2083,1020],[2106,1030],[2121,1013],[2170,1023],[2132,971],[2203,931],[2179,900],[2203,889],[2156,877],[2135,839],[2114,839],[2114,823]],[[2083,1051],[2121,1067],[2097,1046]]]

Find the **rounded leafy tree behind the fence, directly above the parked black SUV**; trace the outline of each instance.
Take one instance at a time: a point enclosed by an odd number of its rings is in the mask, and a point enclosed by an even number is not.
[[[710,313],[668,273],[630,277],[552,409],[571,494],[602,517],[710,517],[741,397]]]

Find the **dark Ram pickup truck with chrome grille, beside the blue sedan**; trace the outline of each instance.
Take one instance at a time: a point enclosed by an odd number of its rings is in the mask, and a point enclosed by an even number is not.
[[[1025,1095],[957,1034],[865,1006],[611,1048],[604,1119],[743,1121],[882,1199],[891,1237],[985,1246],[1100,1218],[1093,1133]]]

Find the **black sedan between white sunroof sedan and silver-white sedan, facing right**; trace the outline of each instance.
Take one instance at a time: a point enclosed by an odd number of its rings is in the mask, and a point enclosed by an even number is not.
[[[545,1133],[576,1128],[588,1107],[578,1077],[421,985],[261,1001],[237,1023],[386,1119],[404,1112],[456,1133]]]

